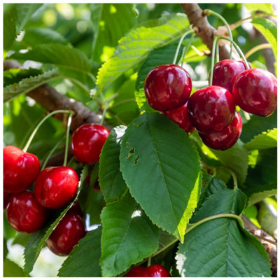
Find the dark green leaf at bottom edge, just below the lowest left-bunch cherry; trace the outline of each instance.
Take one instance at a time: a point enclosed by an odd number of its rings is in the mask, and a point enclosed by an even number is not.
[[[99,260],[101,257],[102,227],[87,232],[73,248],[59,269],[59,277],[101,277]]]

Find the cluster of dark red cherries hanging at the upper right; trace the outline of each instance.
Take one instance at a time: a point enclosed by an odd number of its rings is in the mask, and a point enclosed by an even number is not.
[[[196,129],[205,145],[226,150],[239,139],[241,117],[235,106],[257,116],[271,115],[277,106],[277,80],[262,69],[224,59],[214,65],[213,85],[190,95],[188,72],[176,64],[155,66],[144,83],[150,106],[162,111],[188,134]]]

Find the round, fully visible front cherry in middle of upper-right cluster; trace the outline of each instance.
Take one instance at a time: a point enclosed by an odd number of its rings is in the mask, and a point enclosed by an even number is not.
[[[204,87],[188,100],[188,116],[199,132],[220,132],[235,116],[235,99],[218,85]]]

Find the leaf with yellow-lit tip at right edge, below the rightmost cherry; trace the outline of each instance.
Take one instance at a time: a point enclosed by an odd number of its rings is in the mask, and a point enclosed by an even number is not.
[[[274,130],[267,130],[267,132],[258,134],[245,146],[249,151],[277,147],[277,129],[274,128]]]

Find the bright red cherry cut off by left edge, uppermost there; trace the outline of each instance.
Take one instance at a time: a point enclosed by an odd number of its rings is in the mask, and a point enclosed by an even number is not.
[[[15,146],[3,148],[3,189],[7,193],[27,190],[40,172],[36,155],[25,153]]]

